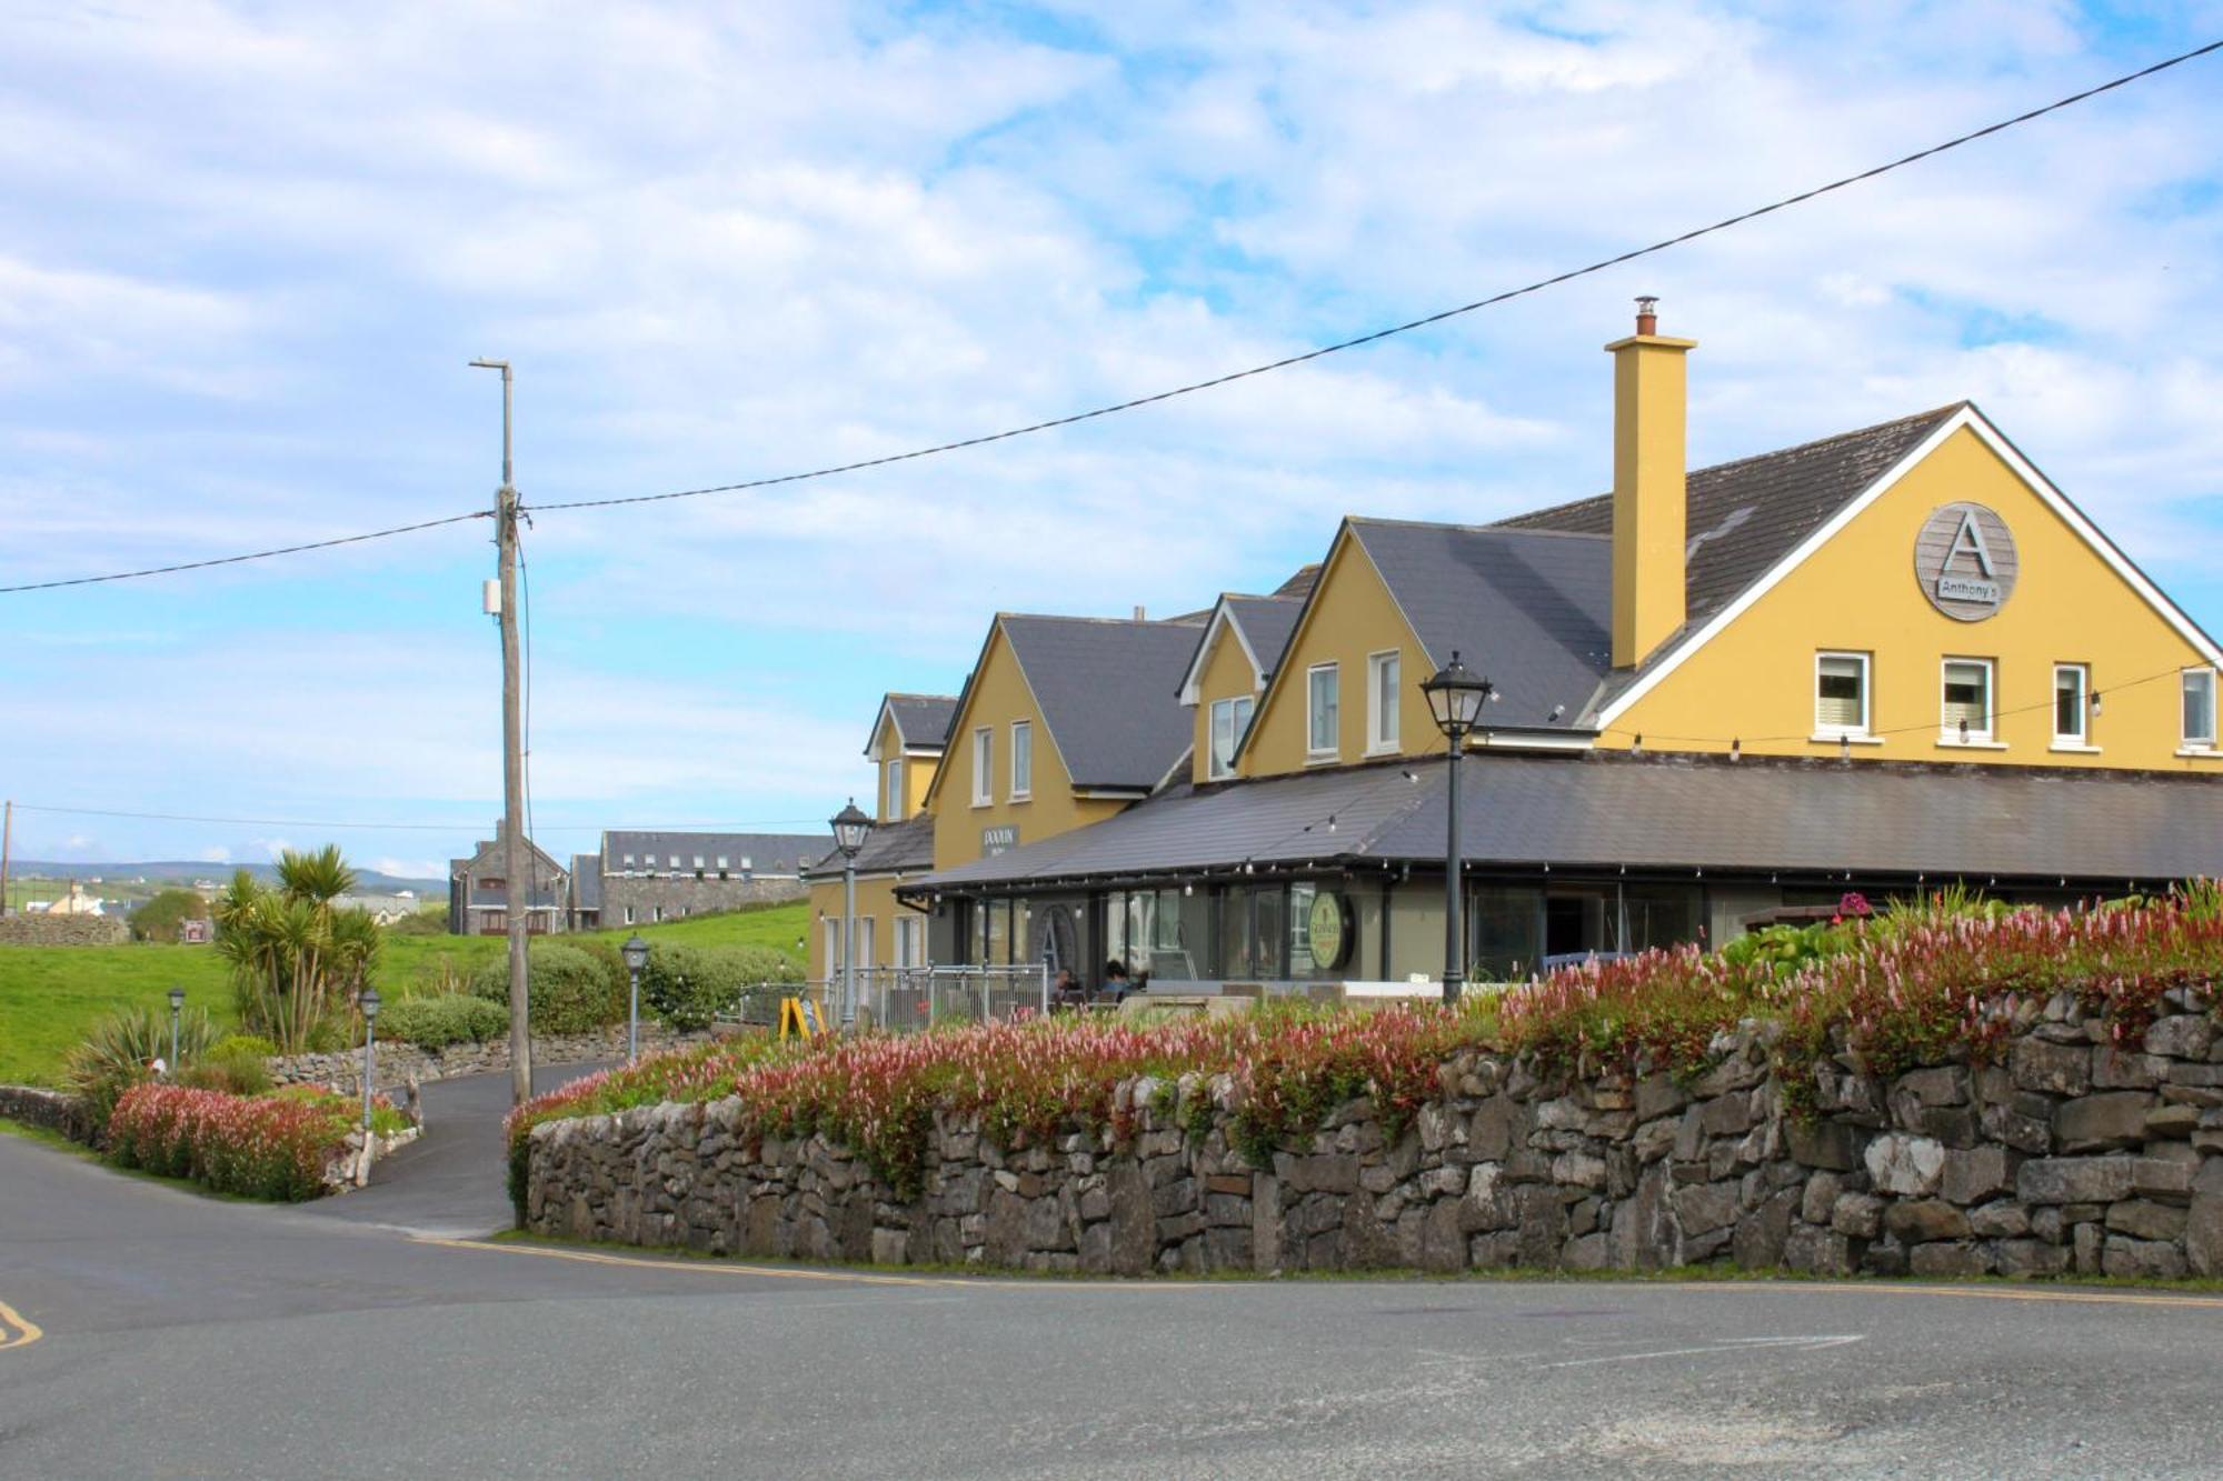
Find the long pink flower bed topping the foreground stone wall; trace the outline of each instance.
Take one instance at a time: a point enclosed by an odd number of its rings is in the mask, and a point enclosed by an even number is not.
[[[1865,903],[1863,903],[1865,905]],[[1727,1030],[1774,1021],[1787,1094],[1810,1094],[1823,1056],[1874,1074],[1983,1061],[2016,1014],[2074,990],[2116,1034],[2143,1032],[2161,994],[2223,974],[2223,898],[2194,889],[2096,910],[2001,910],[1932,898],[1812,927],[1810,950],[1649,952],[1587,963],[1463,1010],[1267,1007],[1247,1018],[1134,1027],[1100,1018],[867,1034],[811,1045],[740,1038],[574,1081],[511,1112],[511,1196],[545,1121],[660,1101],[740,1103],[738,1134],[814,1132],[856,1150],[900,1196],[918,1187],[934,1114],[978,1116],[1003,1145],[1080,1123],[1127,1134],[1120,1083],[1152,1079],[1165,1105],[1183,1076],[1227,1076],[1234,1139],[1254,1163],[1334,1105],[1369,1096],[1396,1134],[1436,1099],[1463,1047],[1547,1070],[1614,1065],[1696,1076]],[[1212,1096],[1187,1105],[1209,1107]]]

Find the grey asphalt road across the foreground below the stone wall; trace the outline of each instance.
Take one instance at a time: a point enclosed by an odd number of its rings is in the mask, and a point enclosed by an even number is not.
[[[0,1136],[0,1477],[2223,1463],[2219,1296],[960,1281],[427,1241],[336,1212]]]

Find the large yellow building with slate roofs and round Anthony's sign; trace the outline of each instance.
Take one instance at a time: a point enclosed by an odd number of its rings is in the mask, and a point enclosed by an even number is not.
[[[1974,405],[1687,471],[1694,342],[1645,302],[1607,351],[1609,494],[1345,518],[1305,589],[1176,623],[1187,761],[1156,783],[1058,767],[1047,814],[1003,785],[1007,727],[1105,660],[1020,663],[1000,618],[905,885],[936,958],[1063,950],[1018,925],[1054,907],[1069,958],[1160,983],[1441,974],[1449,767],[1420,680],[1454,656],[1494,689],[1458,829],[1485,976],[1847,892],[2223,874],[2223,652]]]

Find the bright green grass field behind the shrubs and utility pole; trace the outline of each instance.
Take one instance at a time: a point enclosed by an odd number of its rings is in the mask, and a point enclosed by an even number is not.
[[[642,925],[649,941],[676,945],[758,945],[803,965],[809,903],[689,916]],[[596,932],[600,941],[625,941],[631,930]],[[389,998],[436,990],[442,974],[469,976],[502,954],[500,936],[393,936],[385,938],[373,981]],[[62,1074],[62,1056],[87,1025],[116,1007],[167,1007],[169,990],[185,987],[187,1007],[209,1010],[218,1025],[233,1023],[231,981],[213,950],[200,945],[113,947],[18,947],[0,945],[0,1085],[51,1085]]]

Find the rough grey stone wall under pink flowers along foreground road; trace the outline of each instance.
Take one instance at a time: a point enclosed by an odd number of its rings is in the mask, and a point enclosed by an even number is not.
[[[1465,1054],[1387,1136],[1367,1101],[1254,1167],[1229,1094],[1123,1087],[1138,1132],[1000,1150],[947,1116],[918,1199],[823,1139],[747,1145],[738,1103],[534,1130],[527,1227],[758,1256],[1025,1270],[1621,1268],[1827,1274],[2223,1274],[2223,1041],[2205,998],[2116,1043],[2074,998],[2025,1005],[2001,1063],[1892,1081],[1825,1065],[1790,1116],[1770,1027],[1667,1074],[1541,1079]]]

